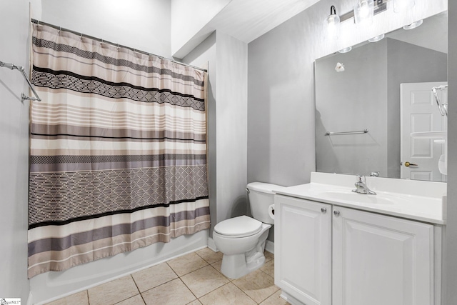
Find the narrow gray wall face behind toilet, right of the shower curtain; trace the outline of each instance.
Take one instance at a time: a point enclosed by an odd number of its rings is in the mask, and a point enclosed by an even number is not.
[[[217,221],[246,214],[248,45],[216,33]]]

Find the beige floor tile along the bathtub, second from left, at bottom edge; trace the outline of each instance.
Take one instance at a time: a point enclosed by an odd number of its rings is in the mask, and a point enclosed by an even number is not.
[[[139,291],[134,279],[131,276],[124,276],[121,279],[91,288],[88,293],[91,305],[109,305],[129,299],[131,296],[139,294]]]

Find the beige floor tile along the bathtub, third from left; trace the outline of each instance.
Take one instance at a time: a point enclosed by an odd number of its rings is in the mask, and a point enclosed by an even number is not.
[[[131,275],[140,292],[144,292],[156,286],[178,278],[173,269],[166,263],[138,271]]]

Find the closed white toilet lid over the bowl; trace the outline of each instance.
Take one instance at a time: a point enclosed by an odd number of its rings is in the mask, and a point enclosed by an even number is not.
[[[226,236],[244,237],[258,233],[262,229],[261,221],[248,216],[238,216],[219,222],[214,231]]]

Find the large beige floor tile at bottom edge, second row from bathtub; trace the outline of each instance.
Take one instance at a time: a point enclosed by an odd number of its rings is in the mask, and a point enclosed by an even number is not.
[[[141,296],[146,305],[185,305],[196,299],[181,279],[145,291]]]

